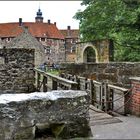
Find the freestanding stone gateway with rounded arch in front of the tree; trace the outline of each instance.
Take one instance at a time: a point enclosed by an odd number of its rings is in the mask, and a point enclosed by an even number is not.
[[[76,44],[76,63],[109,62],[113,51],[109,40],[78,42]]]

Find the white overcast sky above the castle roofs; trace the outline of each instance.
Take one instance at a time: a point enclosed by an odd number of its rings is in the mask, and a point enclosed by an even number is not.
[[[39,5],[43,13],[44,22],[48,19],[56,22],[59,29],[71,26],[72,29],[79,28],[79,21],[72,17],[79,9],[81,1],[0,1],[0,23],[34,22]]]

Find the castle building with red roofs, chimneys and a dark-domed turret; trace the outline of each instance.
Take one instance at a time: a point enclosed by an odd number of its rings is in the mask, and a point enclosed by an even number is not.
[[[57,28],[56,22],[43,22],[41,9],[39,8],[35,22],[0,23],[0,44],[9,44],[23,32],[22,27],[26,27],[28,32],[35,37],[44,48],[46,61],[53,63],[74,62],[75,43],[79,40],[79,30],[72,30],[70,26],[66,30]],[[17,39],[18,40],[18,39]],[[14,44],[14,43],[12,43]]]

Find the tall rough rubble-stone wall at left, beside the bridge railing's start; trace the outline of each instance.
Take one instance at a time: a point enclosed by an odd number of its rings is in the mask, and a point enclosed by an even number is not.
[[[0,93],[34,91],[34,49],[0,49]]]

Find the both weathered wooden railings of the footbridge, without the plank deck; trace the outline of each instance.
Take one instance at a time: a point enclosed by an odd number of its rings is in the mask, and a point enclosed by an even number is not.
[[[64,74],[55,76],[39,69],[35,71],[35,87],[38,91],[84,90],[90,96],[91,104],[105,112],[120,111],[127,113],[129,90],[85,77]],[[119,113],[119,112],[118,112]]]

